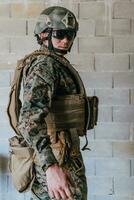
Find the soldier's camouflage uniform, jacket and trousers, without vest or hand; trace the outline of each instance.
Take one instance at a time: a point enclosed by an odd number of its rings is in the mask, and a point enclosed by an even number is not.
[[[50,56],[35,57],[24,74],[24,100],[19,119],[19,130],[28,144],[37,152],[40,164],[35,163],[36,179],[32,186],[33,198],[50,200],[46,184],[46,169],[57,163],[47,133],[44,118],[48,115],[55,95],[77,94],[79,88],[67,67]],[[74,200],[86,200],[85,167],[80,153],[76,130],[57,131],[56,144],[64,137],[64,162],[62,168],[75,183]],[[62,151],[62,149],[59,149]]]

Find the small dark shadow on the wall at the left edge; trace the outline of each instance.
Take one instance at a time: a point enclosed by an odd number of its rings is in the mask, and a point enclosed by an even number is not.
[[[7,173],[8,171],[8,157],[0,154],[0,173]]]

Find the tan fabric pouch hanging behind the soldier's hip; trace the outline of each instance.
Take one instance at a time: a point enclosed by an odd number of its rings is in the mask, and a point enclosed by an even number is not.
[[[9,169],[13,184],[18,192],[29,191],[35,179],[33,170],[34,150],[26,146],[24,139],[17,136],[10,138],[9,143]]]

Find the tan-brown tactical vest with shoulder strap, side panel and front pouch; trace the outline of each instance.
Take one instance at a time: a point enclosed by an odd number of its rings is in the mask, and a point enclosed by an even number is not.
[[[24,70],[26,70],[25,67],[28,66],[27,64],[32,60],[33,56],[38,55],[50,56],[63,66],[68,67],[80,88],[79,94],[55,96],[52,99],[50,112],[45,118],[48,134],[51,136],[51,134],[57,130],[76,128],[79,136],[86,135],[87,130],[94,128],[94,125],[97,123],[98,98],[96,96],[87,97],[78,72],[72,67],[68,60],[46,50],[35,51],[17,63],[7,108],[12,128],[18,136],[21,135],[17,124],[21,109],[21,100],[19,96],[22,77]]]

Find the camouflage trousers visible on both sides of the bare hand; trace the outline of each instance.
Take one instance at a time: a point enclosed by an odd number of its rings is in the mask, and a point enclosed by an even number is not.
[[[73,199],[87,200],[87,182],[81,153],[77,157],[70,159],[69,164],[64,165],[64,167],[68,170],[76,185]],[[38,165],[35,166],[35,170],[36,180],[32,186],[33,200],[54,200],[55,198],[50,198],[48,194],[45,172]]]

